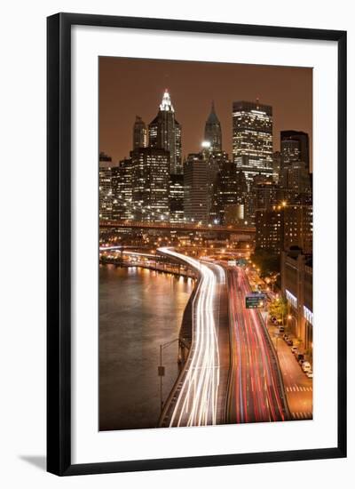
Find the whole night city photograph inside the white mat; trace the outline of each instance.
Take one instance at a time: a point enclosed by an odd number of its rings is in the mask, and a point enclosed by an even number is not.
[[[312,69],[99,87],[99,430],[312,421]]]

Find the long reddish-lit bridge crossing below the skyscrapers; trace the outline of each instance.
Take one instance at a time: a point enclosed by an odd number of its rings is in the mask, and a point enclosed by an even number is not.
[[[193,222],[159,222],[145,220],[100,220],[100,228],[123,228],[123,229],[158,229],[167,231],[199,231],[199,232],[217,232],[228,233],[242,236],[254,236],[256,228],[246,226],[219,224],[201,224]]]

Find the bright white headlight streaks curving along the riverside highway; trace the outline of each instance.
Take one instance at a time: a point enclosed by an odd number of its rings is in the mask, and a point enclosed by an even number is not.
[[[185,261],[200,273],[193,299],[193,337],[185,377],[178,392],[171,426],[217,424],[217,402],[220,381],[218,334],[215,321],[217,285],[225,283],[225,270],[216,264],[205,264],[170,248],[158,252]]]

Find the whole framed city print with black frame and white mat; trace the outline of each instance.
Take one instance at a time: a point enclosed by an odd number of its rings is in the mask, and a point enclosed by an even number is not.
[[[54,474],[346,456],[346,33],[49,17],[47,324]]]

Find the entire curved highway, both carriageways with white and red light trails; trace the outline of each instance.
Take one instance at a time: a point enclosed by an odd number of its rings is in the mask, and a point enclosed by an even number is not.
[[[170,248],[159,253],[199,272],[189,356],[164,407],[161,426],[290,419],[277,355],[244,269],[198,261]],[[226,277],[227,284],[226,284]]]

